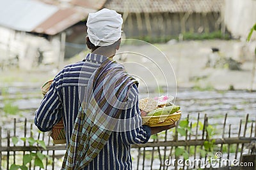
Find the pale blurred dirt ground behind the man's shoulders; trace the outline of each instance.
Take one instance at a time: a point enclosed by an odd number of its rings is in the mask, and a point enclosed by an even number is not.
[[[146,85],[154,89],[157,85],[179,88],[197,88],[202,90],[234,89],[256,90],[256,78],[253,81],[253,55],[248,52],[239,56],[237,46],[240,41],[170,41],[165,44],[150,45],[133,42],[121,46],[115,59],[124,64],[127,71],[136,75],[141,81],[141,88]],[[211,48],[219,48],[218,54],[222,57],[232,57],[241,64],[241,70],[233,71],[225,67],[205,67]],[[252,50],[251,50],[252,51]],[[252,55],[252,56],[251,56]],[[238,57],[237,57],[238,56]],[[84,55],[77,55],[65,60],[60,68],[49,66],[34,67],[31,71],[22,71],[18,68],[4,68],[0,70],[0,86],[32,86],[40,87],[42,83],[54,77],[61,67],[82,60]]]

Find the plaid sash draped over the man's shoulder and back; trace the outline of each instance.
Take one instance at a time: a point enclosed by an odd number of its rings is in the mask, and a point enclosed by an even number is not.
[[[122,110],[136,106],[135,99],[128,100],[134,83],[122,65],[112,59],[102,62],[88,81],[62,169],[83,169],[97,157]]]

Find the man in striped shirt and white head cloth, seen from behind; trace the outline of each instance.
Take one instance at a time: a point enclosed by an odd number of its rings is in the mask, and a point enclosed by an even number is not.
[[[132,169],[131,145],[147,143],[175,125],[141,124],[137,82],[113,60],[122,17],[106,8],[90,13],[86,45],[92,53],[56,75],[35,113],[40,131],[63,118],[67,152],[62,169]]]

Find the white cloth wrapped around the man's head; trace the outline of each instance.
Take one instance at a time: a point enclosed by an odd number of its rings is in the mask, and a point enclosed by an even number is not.
[[[112,45],[121,38],[122,16],[114,10],[102,9],[96,13],[89,13],[87,19],[87,33],[95,46]]]

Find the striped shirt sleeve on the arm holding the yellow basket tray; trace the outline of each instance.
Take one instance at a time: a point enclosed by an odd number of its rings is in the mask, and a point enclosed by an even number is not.
[[[126,118],[125,120],[127,121],[124,121],[126,131],[120,132],[121,138],[127,145],[147,143],[151,136],[151,129],[147,125],[142,125],[136,85],[132,85],[132,89],[129,92],[129,98],[132,97],[135,100],[135,106],[124,110],[122,113],[122,117]]]

